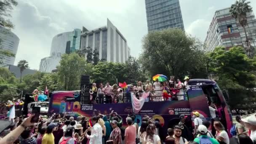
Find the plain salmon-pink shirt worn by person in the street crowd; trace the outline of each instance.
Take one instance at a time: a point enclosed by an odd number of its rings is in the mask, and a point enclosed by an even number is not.
[[[125,136],[127,136],[126,144],[136,144],[136,126],[129,125],[127,128],[125,128]]]

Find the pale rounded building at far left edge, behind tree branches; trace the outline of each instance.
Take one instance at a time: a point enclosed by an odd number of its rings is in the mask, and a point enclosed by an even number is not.
[[[15,35],[13,32],[11,32],[10,30],[0,25],[0,48],[11,51],[13,54],[16,55],[18,50],[18,45],[19,45],[19,37]],[[3,56],[1,58],[1,61],[3,61],[3,64],[0,64],[0,66],[4,66],[8,64],[13,65],[15,61],[15,56],[14,57]]]

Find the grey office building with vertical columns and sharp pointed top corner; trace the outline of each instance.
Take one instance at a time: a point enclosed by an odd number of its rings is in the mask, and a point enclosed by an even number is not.
[[[83,27],[80,48],[88,47],[99,52],[103,61],[125,62],[131,53],[127,40],[109,19],[104,27],[91,31]]]

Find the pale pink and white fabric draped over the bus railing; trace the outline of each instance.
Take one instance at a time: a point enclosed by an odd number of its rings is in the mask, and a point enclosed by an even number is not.
[[[131,93],[131,103],[133,106],[133,112],[134,113],[139,113],[139,111],[141,110],[141,108],[144,105],[145,99],[147,99],[147,97],[149,96],[150,92],[144,92],[141,96],[141,99],[137,99],[136,96],[134,96],[133,93]]]

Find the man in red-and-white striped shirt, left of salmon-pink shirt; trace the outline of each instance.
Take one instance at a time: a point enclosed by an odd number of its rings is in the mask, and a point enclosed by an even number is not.
[[[109,140],[113,141],[113,144],[122,144],[122,136],[121,136],[121,131],[120,128],[117,126],[117,121],[113,120],[111,122],[113,131],[110,134]]]

